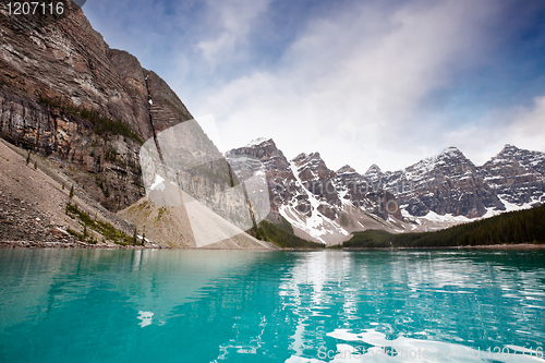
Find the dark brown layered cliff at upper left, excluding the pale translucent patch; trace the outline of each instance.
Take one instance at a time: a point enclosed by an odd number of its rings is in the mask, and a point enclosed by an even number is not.
[[[0,133],[73,162],[71,176],[110,210],[144,194],[143,141],[192,119],[154,72],[110,49],[71,1],[61,20],[0,12]]]

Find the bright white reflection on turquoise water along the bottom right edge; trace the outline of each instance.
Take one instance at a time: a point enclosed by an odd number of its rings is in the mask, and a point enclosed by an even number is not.
[[[361,334],[350,332],[347,329],[336,329],[327,336],[343,343],[337,343],[336,350],[318,349],[316,358],[292,355],[286,363],[323,363],[323,362],[425,362],[425,363],[483,363],[483,362],[545,362],[543,350],[517,347],[489,347],[486,350],[474,349],[461,344],[420,340],[399,337],[386,339],[386,335],[375,329],[364,330]],[[373,347],[361,350],[361,344],[353,347],[350,342],[364,342]]]

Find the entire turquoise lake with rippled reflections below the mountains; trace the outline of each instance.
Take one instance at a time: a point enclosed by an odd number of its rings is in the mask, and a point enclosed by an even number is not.
[[[0,362],[545,362],[544,343],[543,252],[0,250]]]

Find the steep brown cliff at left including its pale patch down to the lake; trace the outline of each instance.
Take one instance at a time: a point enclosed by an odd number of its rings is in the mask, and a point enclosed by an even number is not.
[[[268,211],[268,199],[247,191],[256,201],[250,208],[234,169],[167,83],[126,51],[110,49],[80,8],[65,5],[65,15],[53,17],[1,10],[0,135],[57,159],[71,184],[110,211],[123,209],[159,243],[211,244],[205,225],[217,215],[242,230],[252,227],[252,218]],[[153,190],[156,182],[162,189]],[[161,219],[167,215],[172,218]],[[195,231],[193,222],[202,228]],[[232,237],[220,230],[214,238]],[[268,247],[239,242],[232,247]]]

